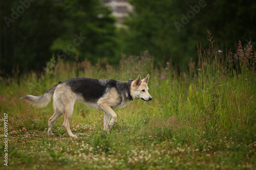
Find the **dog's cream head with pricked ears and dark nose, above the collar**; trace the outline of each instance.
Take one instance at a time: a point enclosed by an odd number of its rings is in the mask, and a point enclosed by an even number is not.
[[[142,99],[149,102],[152,100],[150,93],[148,93],[147,82],[150,80],[150,75],[147,75],[145,79],[141,80],[140,75],[131,84],[131,95],[133,100]]]

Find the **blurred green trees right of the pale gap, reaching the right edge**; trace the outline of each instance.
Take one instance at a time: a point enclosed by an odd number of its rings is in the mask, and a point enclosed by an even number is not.
[[[134,13],[127,18],[122,51],[138,55],[148,50],[156,61],[168,60],[181,67],[197,57],[197,44],[209,44],[207,30],[225,50],[234,50],[241,39],[256,41],[256,3],[252,1],[131,0]],[[247,40],[246,40],[247,39]],[[252,43],[252,44],[253,44]],[[164,59],[164,60],[163,60]]]

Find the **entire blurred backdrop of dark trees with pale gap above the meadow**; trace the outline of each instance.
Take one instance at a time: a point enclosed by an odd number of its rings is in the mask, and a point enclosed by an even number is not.
[[[256,2],[243,0],[0,0],[0,75],[41,71],[55,58],[118,66],[148,51],[178,69],[212,41],[256,46]],[[207,39],[208,38],[208,39]]]

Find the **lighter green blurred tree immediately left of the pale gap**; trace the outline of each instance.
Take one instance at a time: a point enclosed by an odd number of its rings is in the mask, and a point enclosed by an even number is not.
[[[100,0],[64,1],[59,5],[63,9],[64,33],[53,41],[51,51],[68,59],[78,53],[80,59],[92,62],[98,58],[116,60],[113,59],[117,45],[115,19],[109,8]]]

